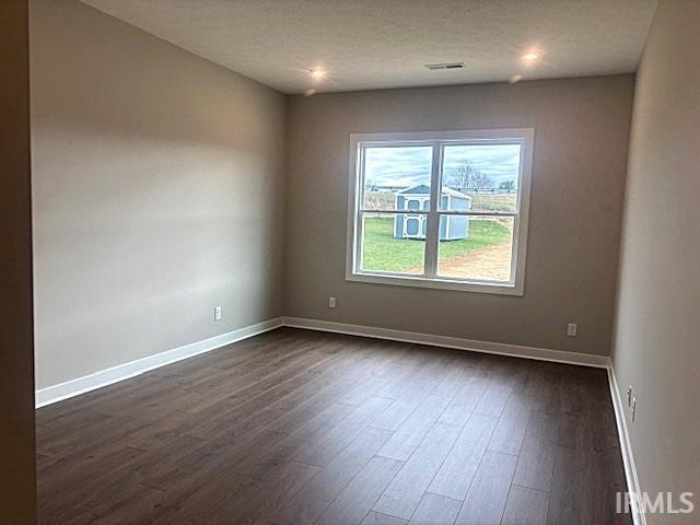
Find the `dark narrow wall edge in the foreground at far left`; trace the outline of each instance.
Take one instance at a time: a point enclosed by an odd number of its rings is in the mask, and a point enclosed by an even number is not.
[[[36,518],[28,23],[0,2],[0,523]]]

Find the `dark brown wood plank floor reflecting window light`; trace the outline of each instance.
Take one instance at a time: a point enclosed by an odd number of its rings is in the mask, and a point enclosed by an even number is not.
[[[603,370],[282,328],[36,419],[43,524],[631,524]]]

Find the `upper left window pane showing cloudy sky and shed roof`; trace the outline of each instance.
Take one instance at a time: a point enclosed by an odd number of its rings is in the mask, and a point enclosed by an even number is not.
[[[365,210],[428,210],[432,147],[364,150]]]

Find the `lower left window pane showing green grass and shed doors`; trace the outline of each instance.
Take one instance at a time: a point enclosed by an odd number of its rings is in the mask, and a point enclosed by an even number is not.
[[[423,273],[424,213],[365,213],[362,270]]]

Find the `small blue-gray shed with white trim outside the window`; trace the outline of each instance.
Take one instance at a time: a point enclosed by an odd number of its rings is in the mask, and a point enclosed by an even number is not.
[[[443,188],[442,211],[467,211],[471,208],[471,197],[452,188]],[[396,194],[396,210],[428,211],[430,208],[430,187],[424,184],[413,186]],[[397,213],[394,215],[395,238],[425,238],[428,217],[422,213]],[[469,218],[464,215],[443,215],[440,221],[440,240],[458,241],[469,236]]]

